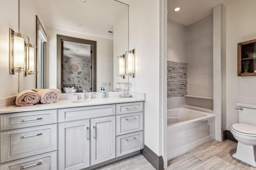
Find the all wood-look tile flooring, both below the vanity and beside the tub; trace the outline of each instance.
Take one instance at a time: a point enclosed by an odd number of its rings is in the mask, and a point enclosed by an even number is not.
[[[236,152],[237,143],[210,141],[168,161],[166,170],[256,170],[232,154]],[[101,166],[95,170],[155,170],[142,156],[136,154],[122,160]]]

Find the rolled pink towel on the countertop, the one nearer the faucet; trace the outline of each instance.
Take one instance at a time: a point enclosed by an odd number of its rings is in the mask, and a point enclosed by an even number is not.
[[[40,96],[40,103],[50,104],[58,100],[58,92],[56,90],[50,89],[32,89],[37,92]]]

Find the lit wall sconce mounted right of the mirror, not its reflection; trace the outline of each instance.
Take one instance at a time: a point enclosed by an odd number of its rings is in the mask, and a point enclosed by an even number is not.
[[[128,55],[126,55],[128,53]],[[135,49],[126,51],[126,75],[135,77]]]

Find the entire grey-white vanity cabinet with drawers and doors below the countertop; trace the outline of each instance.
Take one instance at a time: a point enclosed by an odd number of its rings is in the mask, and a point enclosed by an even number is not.
[[[81,170],[143,149],[144,102],[0,114],[0,170]]]

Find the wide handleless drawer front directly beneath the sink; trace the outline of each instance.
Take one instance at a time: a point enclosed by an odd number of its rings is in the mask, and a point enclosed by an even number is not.
[[[90,119],[110,115],[116,115],[116,106],[114,104],[58,109],[59,122]]]

